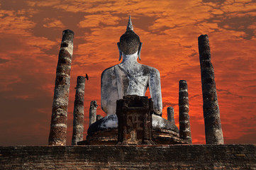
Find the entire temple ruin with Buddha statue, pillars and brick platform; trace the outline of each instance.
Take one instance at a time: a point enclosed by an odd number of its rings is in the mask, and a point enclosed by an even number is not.
[[[208,145],[192,145],[187,81],[179,81],[177,128],[172,106],[167,108],[167,120],[162,118],[160,72],[137,61],[142,42],[130,18],[117,44],[123,61],[105,69],[101,77],[101,108],[106,116],[97,115],[98,105],[91,101],[83,138],[88,76],[77,77],[72,146],[66,146],[73,38],[72,30],[63,31],[48,145],[0,146],[0,169],[256,169],[255,144],[223,145],[208,36],[198,40]],[[145,96],[147,88],[152,98]]]

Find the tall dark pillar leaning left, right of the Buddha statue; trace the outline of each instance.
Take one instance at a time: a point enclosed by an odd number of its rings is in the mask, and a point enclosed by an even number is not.
[[[199,59],[204,101],[206,144],[224,144],[208,35],[200,35],[199,37]]]

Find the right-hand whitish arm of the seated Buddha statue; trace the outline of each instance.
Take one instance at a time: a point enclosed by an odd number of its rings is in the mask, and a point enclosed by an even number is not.
[[[160,72],[153,68],[150,72],[149,79],[150,96],[153,101],[153,109],[156,115],[162,115],[162,92],[161,92],[161,80]]]

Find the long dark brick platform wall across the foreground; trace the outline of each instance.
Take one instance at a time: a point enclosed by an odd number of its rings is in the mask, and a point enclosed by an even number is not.
[[[256,145],[0,147],[0,169],[256,169]]]

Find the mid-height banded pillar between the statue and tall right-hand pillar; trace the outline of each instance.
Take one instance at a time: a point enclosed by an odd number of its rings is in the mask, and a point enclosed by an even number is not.
[[[189,122],[189,93],[187,81],[179,81],[179,138],[192,143]]]

